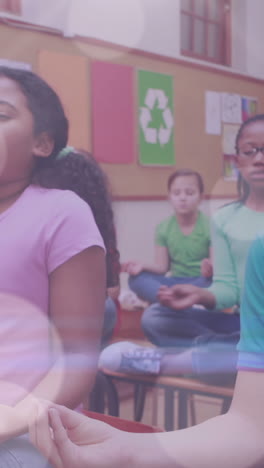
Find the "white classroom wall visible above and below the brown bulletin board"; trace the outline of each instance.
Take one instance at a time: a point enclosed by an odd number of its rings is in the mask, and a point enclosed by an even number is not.
[[[78,33],[171,57],[180,54],[179,0],[45,0],[45,5],[43,0],[23,0],[23,5],[27,21],[59,27],[68,34]],[[263,0],[233,0],[233,68],[262,78],[263,17]],[[202,209],[212,214],[228,201],[206,201]],[[121,260],[150,262],[154,230],[171,213],[169,203],[116,201],[114,212]],[[127,287],[125,275],[121,284]]]

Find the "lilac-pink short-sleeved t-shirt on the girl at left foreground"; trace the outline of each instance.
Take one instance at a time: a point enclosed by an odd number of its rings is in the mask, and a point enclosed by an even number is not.
[[[71,191],[29,186],[0,214],[0,380],[29,390],[48,369],[49,274],[93,245],[91,209]],[[22,395],[1,388],[0,403]]]

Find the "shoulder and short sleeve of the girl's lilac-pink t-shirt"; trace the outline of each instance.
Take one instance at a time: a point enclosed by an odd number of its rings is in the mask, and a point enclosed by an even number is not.
[[[88,247],[104,242],[89,205],[70,190],[33,187],[39,241],[50,274]],[[32,194],[33,195],[33,194]],[[34,202],[34,203],[35,203]],[[33,208],[33,206],[32,206]]]

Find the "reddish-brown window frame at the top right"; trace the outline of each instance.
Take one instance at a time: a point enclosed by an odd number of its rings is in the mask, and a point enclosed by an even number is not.
[[[209,2],[205,0],[205,12],[204,15],[200,15],[195,11],[195,2],[197,0],[190,0],[190,10],[185,10],[182,7],[180,9],[181,27],[182,27],[182,16],[185,15],[191,20],[191,28],[189,32],[189,41],[191,44],[190,50],[184,49],[181,44],[181,54],[187,57],[205,60],[206,62],[215,63],[218,65],[231,65],[231,0],[218,0],[221,2],[221,17],[218,19],[211,19],[209,17]],[[195,20],[201,20],[205,23],[205,53],[199,54],[194,51],[194,24]],[[216,25],[221,30],[221,39],[219,41],[219,58],[209,56],[208,44],[209,44],[209,25]]]

